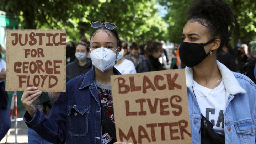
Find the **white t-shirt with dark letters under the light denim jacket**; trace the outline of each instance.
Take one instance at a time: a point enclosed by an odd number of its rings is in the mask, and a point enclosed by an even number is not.
[[[224,134],[224,112],[228,93],[223,81],[213,90],[199,85],[193,80],[193,90],[201,113],[213,124],[213,130],[221,135]],[[212,92],[209,94],[209,92]],[[208,95],[209,94],[209,95]],[[208,95],[208,96],[207,96]],[[207,96],[207,97],[202,97]]]

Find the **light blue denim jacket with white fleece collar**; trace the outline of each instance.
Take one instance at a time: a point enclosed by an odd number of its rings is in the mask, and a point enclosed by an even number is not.
[[[247,76],[231,72],[217,61],[226,91],[229,93],[224,114],[226,144],[255,144],[256,85]],[[201,112],[193,93],[193,70],[185,68],[192,143],[201,143]]]

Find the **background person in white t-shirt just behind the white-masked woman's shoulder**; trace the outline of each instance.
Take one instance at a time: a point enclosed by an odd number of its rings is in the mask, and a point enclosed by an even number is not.
[[[121,74],[135,74],[136,69],[132,61],[125,59],[128,44],[124,40],[120,40],[122,50],[117,56],[117,63],[114,66]]]

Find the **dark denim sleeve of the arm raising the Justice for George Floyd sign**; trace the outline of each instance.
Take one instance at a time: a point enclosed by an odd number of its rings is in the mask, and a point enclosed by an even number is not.
[[[36,131],[42,138],[54,144],[64,144],[66,141],[66,117],[67,117],[67,96],[60,93],[58,99],[53,103],[49,117],[36,108],[32,118],[26,111],[24,121],[28,127]]]

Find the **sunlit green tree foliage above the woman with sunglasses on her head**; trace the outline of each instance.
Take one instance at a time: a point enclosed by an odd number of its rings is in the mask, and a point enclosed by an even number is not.
[[[89,38],[94,21],[112,22],[122,39],[166,40],[167,25],[156,0],[0,0],[0,9],[20,18],[22,29],[66,29],[68,39]]]

